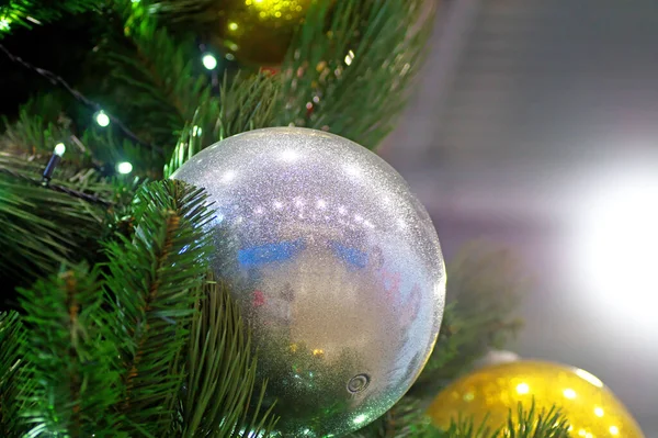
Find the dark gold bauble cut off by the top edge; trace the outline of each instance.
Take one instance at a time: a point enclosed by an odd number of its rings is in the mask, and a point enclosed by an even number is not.
[[[281,64],[314,0],[217,0],[212,43],[243,64]]]

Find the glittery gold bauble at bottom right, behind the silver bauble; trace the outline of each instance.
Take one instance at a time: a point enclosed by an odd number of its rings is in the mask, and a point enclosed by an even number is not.
[[[509,409],[534,398],[538,409],[558,406],[570,424],[572,437],[643,438],[633,416],[614,394],[585,370],[552,362],[522,360],[479,369],[458,379],[434,400],[433,423],[447,428],[451,418],[489,415],[489,425],[503,426]]]

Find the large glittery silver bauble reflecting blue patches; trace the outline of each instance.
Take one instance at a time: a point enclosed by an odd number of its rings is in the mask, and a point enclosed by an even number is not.
[[[252,131],[172,178],[214,202],[213,269],[252,326],[284,437],[338,437],[390,408],[441,325],[436,232],[405,180],[325,132]]]

